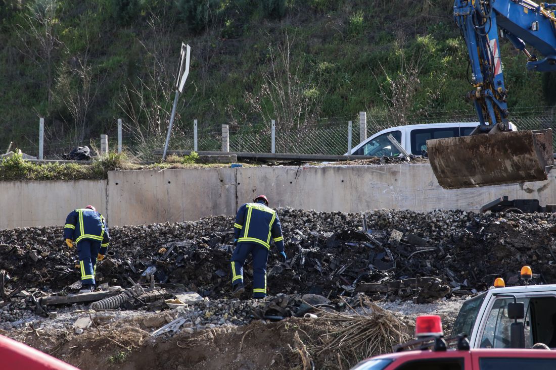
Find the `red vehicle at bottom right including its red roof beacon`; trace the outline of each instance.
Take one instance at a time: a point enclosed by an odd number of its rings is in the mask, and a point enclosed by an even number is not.
[[[465,337],[458,338],[458,349],[447,349],[441,332],[440,317],[435,318],[438,318],[438,323],[433,324],[436,328],[431,329],[430,326],[423,328],[418,317],[415,332],[421,338],[395,348],[403,351],[404,348],[418,346],[420,350],[376,356],[360,362],[352,370],[556,369],[556,351],[549,349],[469,349],[469,342]]]

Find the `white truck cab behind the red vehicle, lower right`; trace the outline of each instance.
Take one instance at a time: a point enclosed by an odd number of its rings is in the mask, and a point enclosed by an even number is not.
[[[508,304],[524,304],[524,318],[508,317]],[[510,316],[512,316],[510,314]],[[556,348],[556,284],[489,289],[465,301],[452,334],[467,334],[471,348],[512,348],[510,327],[523,323],[524,347]]]

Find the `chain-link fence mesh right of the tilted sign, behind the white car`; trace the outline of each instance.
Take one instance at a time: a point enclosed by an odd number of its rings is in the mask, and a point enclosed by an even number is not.
[[[527,110],[516,110],[510,120],[520,130],[553,129],[554,147],[556,149],[556,119],[547,109],[540,107],[537,115],[534,108]],[[277,127],[275,131],[275,152],[276,153],[304,153],[304,154],[344,154],[348,150],[349,141],[349,117],[345,120],[329,119],[326,122],[315,125],[315,127],[281,132]],[[354,148],[360,143],[360,122],[359,116],[351,119],[351,147]],[[409,117],[406,118],[410,124],[426,124],[441,122],[476,122],[477,117],[474,112],[438,112],[429,114],[429,117]],[[405,123],[396,121],[389,117],[374,117],[370,114],[366,116],[366,136],[390,127],[400,126]],[[193,149],[193,132],[184,131],[187,138],[172,140],[172,149],[191,150]],[[231,152],[271,152],[271,129],[265,126],[234,126],[229,127],[229,148]],[[221,151],[222,150],[222,131],[221,125],[199,129],[198,151]]]

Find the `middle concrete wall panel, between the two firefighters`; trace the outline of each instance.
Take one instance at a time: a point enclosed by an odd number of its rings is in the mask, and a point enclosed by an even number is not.
[[[109,172],[108,203],[111,226],[235,214],[235,169]]]

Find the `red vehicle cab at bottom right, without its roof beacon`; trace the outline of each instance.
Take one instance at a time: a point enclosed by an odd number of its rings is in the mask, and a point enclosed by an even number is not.
[[[376,356],[352,370],[554,370],[556,351],[486,349],[408,351]]]

